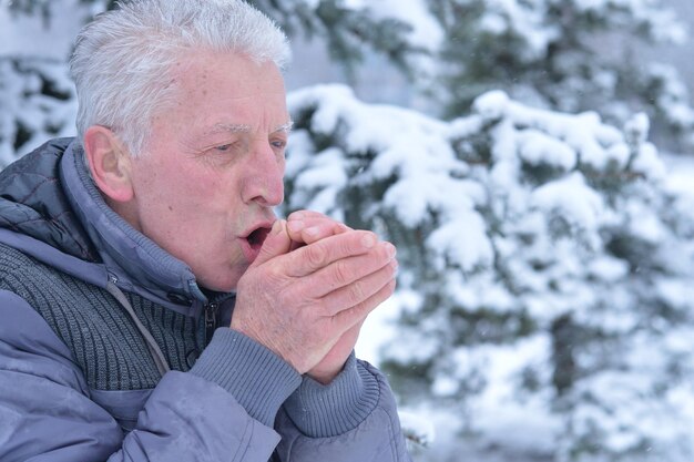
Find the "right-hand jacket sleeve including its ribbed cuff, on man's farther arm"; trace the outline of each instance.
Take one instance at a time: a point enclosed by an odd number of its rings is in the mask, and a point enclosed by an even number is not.
[[[411,461],[386,378],[354,353],[329,386],[304,378],[275,428],[283,462]]]

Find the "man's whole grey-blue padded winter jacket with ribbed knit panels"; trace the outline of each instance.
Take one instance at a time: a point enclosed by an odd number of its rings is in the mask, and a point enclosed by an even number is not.
[[[233,300],[113,213],[72,140],[0,172],[0,461],[410,460],[378,370],[303,378],[224,327]]]

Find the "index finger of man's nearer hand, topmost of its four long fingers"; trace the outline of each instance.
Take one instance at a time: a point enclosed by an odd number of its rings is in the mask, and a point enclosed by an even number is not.
[[[378,244],[367,230],[350,230],[326,237],[286,255],[285,270],[293,277],[308,276],[343,258],[368,253]]]

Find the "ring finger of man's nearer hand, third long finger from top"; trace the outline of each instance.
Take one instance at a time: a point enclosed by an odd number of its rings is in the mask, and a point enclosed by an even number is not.
[[[397,273],[397,260],[391,260],[386,266],[368,276],[322,297],[319,305],[323,307],[326,315],[336,316],[339,311],[369,300],[384,287],[388,287],[395,280]]]

